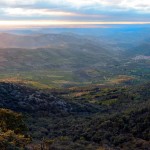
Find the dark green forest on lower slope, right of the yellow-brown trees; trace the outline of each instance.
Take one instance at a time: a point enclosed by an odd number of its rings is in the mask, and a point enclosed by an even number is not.
[[[148,150],[150,105],[140,107],[109,116],[98,113],[46,120],[36,118],[37,122],[32,122],[30,131],[34,138],[42,139],[41,144],[45,149],[97,150],[101,146],[106,150]]]

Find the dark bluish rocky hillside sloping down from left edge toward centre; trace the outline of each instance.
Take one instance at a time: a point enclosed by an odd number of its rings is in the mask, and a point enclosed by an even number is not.
[[[92,104],[80,104],[60,98],[59,95],[44,93],[23,85],[0,83],[0,107],[14,111],[51,115],[84,114],[98,111]]]

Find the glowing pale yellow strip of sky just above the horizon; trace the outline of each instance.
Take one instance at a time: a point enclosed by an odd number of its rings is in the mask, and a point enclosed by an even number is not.
[[[1,28],[34,28],[34,27],[91,27],[94,28],[98,25],[150,25],[150,22],[140,21],[52,21],[52,20],[0,20]]]

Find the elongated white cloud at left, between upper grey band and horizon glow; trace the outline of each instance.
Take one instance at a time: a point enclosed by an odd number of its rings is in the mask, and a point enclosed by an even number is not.
[[[0,8],[1,14],[3,16],[13,19],[43,19],[43,20],[92,20],[105,18],[105,15],[100,14],[86,14],[86,13],[78,13],[72,11],[64,11],[64,10],[55,10],[55,9],[47,9],[47,8]]]

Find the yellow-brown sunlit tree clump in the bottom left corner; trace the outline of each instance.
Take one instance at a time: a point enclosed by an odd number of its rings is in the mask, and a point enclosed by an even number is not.
[[[21,114],[8,109],[0,109],[0,148],[25,149],[31,138],[26,134],[27,127]]]

